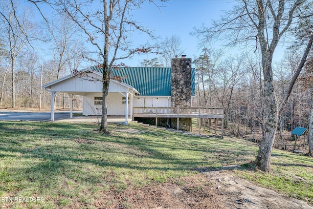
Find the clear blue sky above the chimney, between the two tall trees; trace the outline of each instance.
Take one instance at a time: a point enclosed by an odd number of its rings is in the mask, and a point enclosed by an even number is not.
[[[165,7],[160,7],[158,10],[153,4],[145,3],[142,9],[134,14],[135,19],[143,20],[142,23],[154,29],[156,35],[161,38],[178,35],[181,39],[181,47],[185,49],[184,54],[189,58],[201,53],[197,38],[190,35],[194,27],[199,28],[202,24],[210,26],[213,19],[220,19],[223,10],[232,7],[230,0],[169,0],[164,5]],[[218,44],[215,47],[219,47]],[[141,60],[156,56],[150,54],[134,57],[125,63],[129,66],[137,66]]]

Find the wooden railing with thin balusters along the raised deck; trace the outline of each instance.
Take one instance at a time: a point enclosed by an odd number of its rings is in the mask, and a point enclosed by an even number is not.
[[[134,107],[134,115],[224,115],[220,107]]]

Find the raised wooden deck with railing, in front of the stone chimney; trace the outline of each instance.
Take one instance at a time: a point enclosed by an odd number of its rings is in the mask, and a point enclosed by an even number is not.
[[[224,118],[220,107],[133,107],[134,118]]]

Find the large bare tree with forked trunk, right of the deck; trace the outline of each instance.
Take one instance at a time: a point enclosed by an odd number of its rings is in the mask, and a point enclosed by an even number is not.
[[[237,2],[238,4],[222,18],[221,22],[215,22],[212,28],[196,30],[195,34],[201,35],[200,38],[204,43],[223,35],[223,38],[228,38],[233,45],[255,42],[256,47],[260,47],[264,78],[264,125],[263,139],[254,164],[259,169],[267,171],[270,168],[278,114],[290,95],[287,94],[282,105],[278,107],[273,85],[273,54],[292,22],[298,18],[295,16],[295,11],[305,3],[305,0],[238,0]],[[305,14],[308,17],[310,15]],[[308,47],[311,48],[310,44]],[[306,57],[303,58],[305,62]],[[301,67],[298,69],[301,70]],[[297,76],[298,73],[292,78],[288,92],[291,92]]]

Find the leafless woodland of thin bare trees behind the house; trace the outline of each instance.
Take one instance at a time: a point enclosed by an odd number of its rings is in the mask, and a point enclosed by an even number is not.
[[[77,40],[79,27],[60,16],[36,22],[28,9],[0,2],[0,106],[1,108],[42,108],[50,105],[50,95],[40,84],[47,84],[86,67],[88,50]],[[35,9],[35,8],[34,8]],[[18,11],[18,12],[17,12]],[[311,26],[312,27],[312,26]],[[25,30],[25,28],[27,30]],[[49,58],[42,59],[36,47],[48,46]],[[303,44],[290,42],[282,51],[282,60],[273,61],[274,94],[278,104],[288,94],[291,78],[296,73],[304,51]],[[179,36],[161,41],[160,53],[138,66],[169,66],[171,58],[184,52]],[[53,47],[51,47],[53,46]],[[189,52],[192,54],[192,52]],[[224,107],[225,124],[236,136],[261,130],[264,124],[264,84],[261,52],[258,48],[245,54],[229,56],[223,49],[203,48],[192,57],[195,68],[196,99],[193,105]],[[309,54],[291,96],[279,114],[278,133],[295,126],[308,127],[313,103],[311,85],[312,55]],[[67,94],[58,95],[57,108],[69,108]],[[80,109],[82,98],[74,97],[74,108]],[[245,131],[243,131],[245,130]]]

